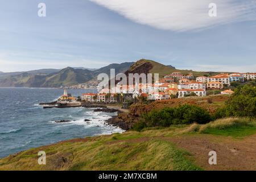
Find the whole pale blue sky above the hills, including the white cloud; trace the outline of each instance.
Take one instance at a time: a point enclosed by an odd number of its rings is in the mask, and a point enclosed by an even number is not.
[[[209,16],[210,3],[217,16]],[[150,59],[256,72],[255,32],[256,0],[0,0],[0,71]]]

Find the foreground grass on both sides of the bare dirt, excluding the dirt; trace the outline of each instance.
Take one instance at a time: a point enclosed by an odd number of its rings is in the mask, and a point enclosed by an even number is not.
[[[191,154],[167,138],[204,136],[203,131],[207,133],[208,129],[214,131],[213,135],[233,137],[256,133],[255,121],[228,120],[196,126],[197,129],[195,124],[154,128],[141,133],[128,131],[32,148],[1,159],[0,170],[200,170]],[[237,129],[242,131],[238,136]],[[47,165],[38,165],[38,151],[46,151]]]

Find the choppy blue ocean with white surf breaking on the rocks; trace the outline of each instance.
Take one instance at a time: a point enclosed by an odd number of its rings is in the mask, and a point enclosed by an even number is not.
[[[89,92],[96,90],[68,90],[73,96]],[[105,123],[117,113],[93,112],[84,107],[43,109],[38,105],[56,100],[61,94],[63,89],[0,88],[0,158],[61,140],[123,132]],[[72,122],[55,122],[62,119]]]

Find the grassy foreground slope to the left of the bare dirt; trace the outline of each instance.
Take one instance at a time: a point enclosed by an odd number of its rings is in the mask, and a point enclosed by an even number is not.
[[[201,170],[191,154],[171,142],[133,134],[33,148],[1,159],[0,170]],[[46,151],[47,165],[37,163],[41,150]]]

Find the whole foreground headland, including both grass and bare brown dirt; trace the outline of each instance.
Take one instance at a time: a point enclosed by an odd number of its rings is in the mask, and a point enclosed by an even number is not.
[[[220,123],[226,127],[218,129]],[[0,170],[256,170],[255,121],[228,118],[196,126],[202,131],[193,127],[71,139],[9,155],[0,159]],[[217,165],[208,163],[212,150]],[[47,165],[38,164],[39,151],[46,152]]]

